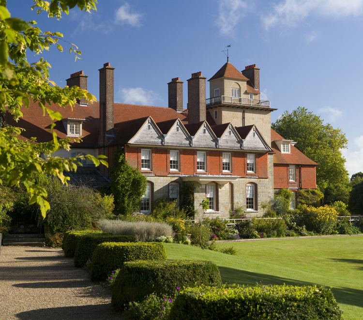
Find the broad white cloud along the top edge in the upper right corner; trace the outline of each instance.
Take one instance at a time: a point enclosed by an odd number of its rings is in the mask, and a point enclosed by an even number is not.
[[[275,4],[272,13],[261,17],[266,29],[275,25],[294,27],[307,16],[323,17],[360,16],[363,0],[282,0]]]

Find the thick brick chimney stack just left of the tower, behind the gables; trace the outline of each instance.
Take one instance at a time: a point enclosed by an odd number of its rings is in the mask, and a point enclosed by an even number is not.
[[[187,80],[189,124],[206,119],[205,80],[201,71],[192,73],[192,78]]]

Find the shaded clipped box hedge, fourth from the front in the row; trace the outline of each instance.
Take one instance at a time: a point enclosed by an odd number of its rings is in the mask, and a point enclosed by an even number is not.
[[[135,242],[134,236],[110,234],[84,234],[78,239],[75,252],[75,266],[84,267],[91,258],[94,249],[102,242]]]

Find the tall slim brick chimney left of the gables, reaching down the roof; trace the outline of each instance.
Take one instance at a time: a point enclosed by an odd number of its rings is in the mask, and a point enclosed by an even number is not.
[[[114,102],[114,85],[113,73],[114,67],[110,63],[104,64],[100,71],[100,137],[99,146],[105,146],[108,138],[112,138],[113,122],[113,102]]]

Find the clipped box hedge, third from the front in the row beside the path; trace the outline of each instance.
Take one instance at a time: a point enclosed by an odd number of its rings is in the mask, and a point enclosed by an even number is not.
[[[92,255],[91,279],[106,280],[112,270],[135,260],[166,260],[165,248],[160,242],[101,243]]]

